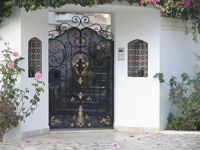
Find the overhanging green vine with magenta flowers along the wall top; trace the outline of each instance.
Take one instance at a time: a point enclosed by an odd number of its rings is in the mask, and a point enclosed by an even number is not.
[[[33,11],[41,8],[59,8],[65,4],[80,4],[81,6],[93,6],[98,4],[112,3],[114,0],[1,0],[0,1],[0,22],[9,17],[12,7],[24,8],[26,11]],[[200,33],[200,0],[118,0],[127,1],[129,4],[138,3],[146,6],[153,4],[155,8],[169,17],[179,17],[184,22],[192,21],[192,33],[194,40]]]

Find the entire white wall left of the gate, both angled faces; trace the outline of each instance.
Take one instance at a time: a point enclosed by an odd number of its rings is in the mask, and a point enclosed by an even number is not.
[[[4,42],[9,42],[12,51],[18,51],[25,58],[21,66],[26,70],[19,78],[18,86],[30,89],[33,79],[28,78],[28,41],[37,37],[42,41],[42,80],[45,82],[45,93],[41,95],[39,107],[33,115],[4,136],[4,141],[19,139],[26,136],[48,132],[48,12],[36,11],[25,13],[21,9],[13,10],[11,17],[0,24],[0,49],[5,48]]]

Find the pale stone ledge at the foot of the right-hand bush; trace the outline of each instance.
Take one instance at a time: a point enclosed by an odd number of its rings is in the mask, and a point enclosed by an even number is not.
[[[169,135],[200,135],[200,131],[176,131],[176,130],[163,130],[160,131],[161,134]]]

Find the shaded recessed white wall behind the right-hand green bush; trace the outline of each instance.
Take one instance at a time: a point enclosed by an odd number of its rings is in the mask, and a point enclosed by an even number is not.
[[[200,55],[200,42],[195,43],[191,34],[185,34],[185,29],[181,20],[162,18],[160,72],[164,73],[167,81],[172,75],[180,77],[183,72],[193,74],[198,69],[195,53]],[[169,87],[161,84],[161,129],[166,127],[169,112],[175,112],[169,101]]]

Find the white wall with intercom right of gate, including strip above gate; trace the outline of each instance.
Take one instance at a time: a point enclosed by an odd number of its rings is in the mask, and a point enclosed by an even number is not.
[[[159,129],[159,82],[153,79],[160,72],[160,13],[152,8],[129,5],[80,7],[68,5],[50,11],[110,13],[115,36],[115,111],[114,128],[125,131]],[[141,39],[149,44],[147,78],[128,77],[128,42]],[[118,61],[117,49],[125,48],[125,60]],[[141,131],[140,130],[140,131]]]

